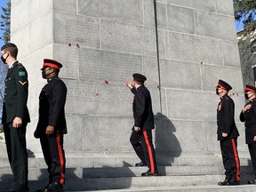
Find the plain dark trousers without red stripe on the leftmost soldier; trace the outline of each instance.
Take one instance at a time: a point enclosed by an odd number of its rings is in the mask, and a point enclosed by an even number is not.
[[[27,124],[22,124],[19,128],[13,128],[12,123],[4,124],[4,137],[14,177],[14,189],[28,189],[26,130]]]

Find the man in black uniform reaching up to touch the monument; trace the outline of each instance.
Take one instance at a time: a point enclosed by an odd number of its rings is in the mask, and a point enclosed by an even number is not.
[[[154,115],[150,92],[144,85],[147,78],[140,74],[133,74],[132,76],[133,82],[128,82],[126,85],[134,94],[132,103],[134,125],[130,141],[141,160],[135,166],[143,166],[144,164],[148,166],[148,172],[142,172],[141,176],[157,176],[156,156],[151,132],[155,128]]]

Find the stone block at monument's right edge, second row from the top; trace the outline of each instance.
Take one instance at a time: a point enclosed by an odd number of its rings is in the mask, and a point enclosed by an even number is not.
[[[196,11],[196,35],[214,38],[236,39],[235,20],[233,17]]]

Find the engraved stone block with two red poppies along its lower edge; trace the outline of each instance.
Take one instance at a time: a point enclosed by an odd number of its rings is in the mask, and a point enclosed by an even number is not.
[[[100,48],[99,19],[55,12],[53,26],[56,44]]]

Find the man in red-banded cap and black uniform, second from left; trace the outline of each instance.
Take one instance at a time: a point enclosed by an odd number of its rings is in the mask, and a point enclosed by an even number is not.
[[[44,160],[48,166],[49,184],[37,192],[63,191],[66,158],[63,134],[67,133],[65,102],[67,87],[58,77],[62,65],[56,60],[44,59],[44,85],[39,96],[39,119],[34,136],[40,138]]]

